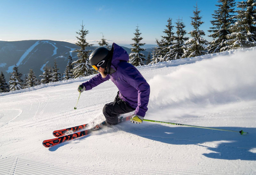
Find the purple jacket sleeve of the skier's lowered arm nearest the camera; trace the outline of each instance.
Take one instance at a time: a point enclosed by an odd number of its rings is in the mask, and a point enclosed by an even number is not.
[[[123,80],[138,90],[138,106],[134,114],[145,116],[148,110],[150,86],[135,67],[127,67],[121,73]]]

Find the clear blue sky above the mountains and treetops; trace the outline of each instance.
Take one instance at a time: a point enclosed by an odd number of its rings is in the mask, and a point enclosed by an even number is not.
[[[217,10],[217,0],[0,0],[0,40],[49,39],[74,43],[83,21],[90,32],[86,39],[91,44],[102,38],[101,33],[110,44],[131,44],[137,24],[144,38],[142,42],[155,44],[155,39],[164,35],[168,18],[173,23],[182,18],[185,30],[193,30],[190,17],[196,3],[205,22],[200,29],[209,35],[207,30],[212,27],[211,14]]]

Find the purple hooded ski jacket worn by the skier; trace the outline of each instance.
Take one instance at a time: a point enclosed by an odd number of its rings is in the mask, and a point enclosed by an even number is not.
[[[126,101],[129,106],[136,108],[134,114],[144,117],[148,110],[150,86],[139,73],[139,70],[127,62],[129,55],[122,47],[113,43],[112,50],[111,73],[106,78],[102,78],[101,74],[97,74],[82,84],[85,86],[85,90],[91,90],[104,81],[111,79],[119,90],[120,98]]]

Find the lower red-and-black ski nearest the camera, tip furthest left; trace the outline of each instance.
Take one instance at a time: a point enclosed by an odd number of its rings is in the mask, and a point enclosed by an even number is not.
[[[131,116],[120,117],[119,120],[118,120],[118,123],[122,122],[122,121],[127,121],[130,118],[131,118]],[[53,147],[53,146],[58,145],[60,143],[67,142],[67,141],[70,141],[70,140],[74,140],[74,139],[82,137],[82,136],[86,136],[86,135],[90,134],[92,131],[100,130],[103,126],[106,126],[106,121],[103,121],[100,124],[95,125],[93,128],[90,128],[90,129],[87,129],[87,130],[75,132],[75,133],[72,133],[72,134],[60,136],[60,137],[49,139],[49,140],[44,140],[43,141],[43,146],[45,146],[47,148],[48,147]]]

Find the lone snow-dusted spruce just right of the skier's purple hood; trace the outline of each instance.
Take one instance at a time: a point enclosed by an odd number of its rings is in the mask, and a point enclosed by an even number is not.
[[[145,49],[142,49],[140,46],[145,45],[145,43],[140,43],[143,38],[140,37],[141,33],[139,33],[139,26],[136,27],[136,32],[134,33],[135,37],[132,39],[134,43],[131,44],[133,46],[131,49],[132,53],[129,54],[129,63],[133,64],[134,66],[141,66],[145,64],[145,55],[141,53]]]

